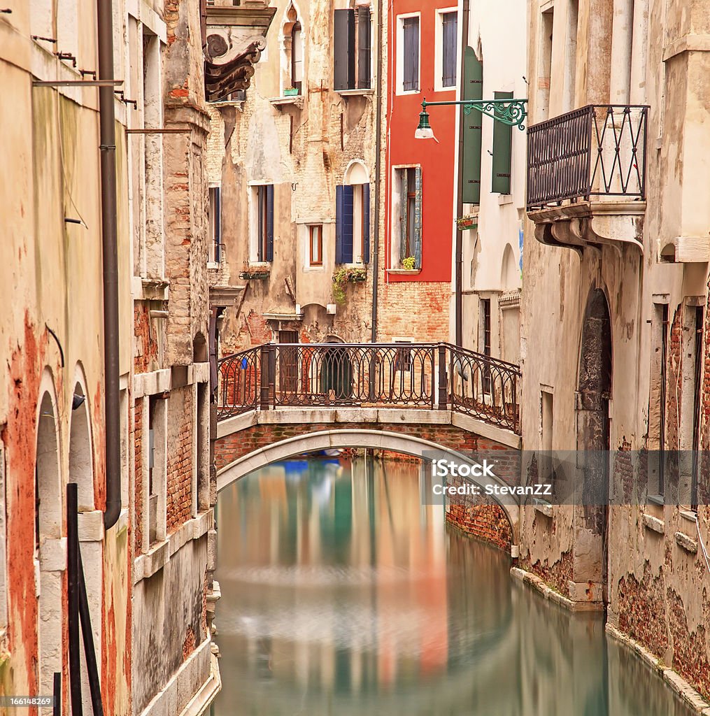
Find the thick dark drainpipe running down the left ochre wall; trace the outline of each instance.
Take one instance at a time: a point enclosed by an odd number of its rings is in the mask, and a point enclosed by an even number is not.
[[[113,79],[111,0],[97,0],[99,79]],[[121,512],[121,444],[118,362],[118,241],[116,227],[116,137],[113,87],[99,87],[101,150],[101,242],[104,303],[104,403],[106,511],[110,529]]]

